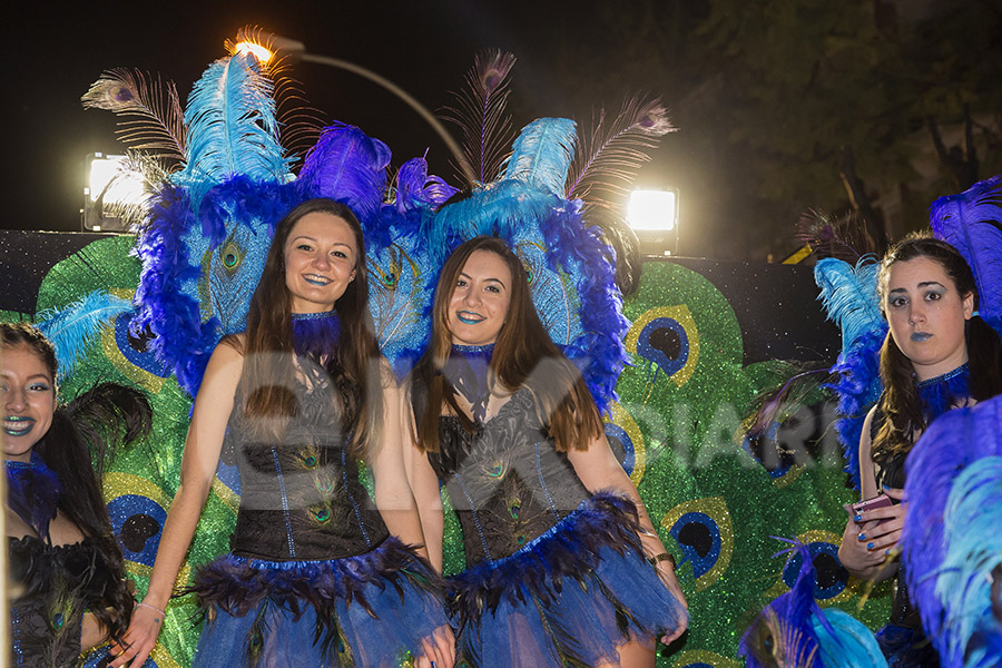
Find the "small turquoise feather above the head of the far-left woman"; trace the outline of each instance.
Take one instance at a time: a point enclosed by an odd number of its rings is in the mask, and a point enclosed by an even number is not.
[[[38,314],[38,328],[56,348],[59,376],[72,374],[77,361],[87,353],[105,325],[131,305],[120,297],[95,291],[69,306]]]

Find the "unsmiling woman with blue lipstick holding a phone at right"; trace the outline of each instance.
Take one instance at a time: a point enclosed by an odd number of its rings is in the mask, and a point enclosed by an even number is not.
[[[877,636],[891,666],[939,666],[908,598],[895,548],[904,522],[905,459],[922,432],[951,409],[1002,392],[1002,344],[978,315],[974,276],[953,246],[911,236],[884,256],[877,289],[890,332],[881,350],[884,392],[863,425],[864,500],[895,503],[849,518],[838,557],[856,577],[897,577],[891,621]]]

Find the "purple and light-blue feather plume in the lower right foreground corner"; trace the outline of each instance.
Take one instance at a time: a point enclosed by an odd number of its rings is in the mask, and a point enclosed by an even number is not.
[[[954,487],[967,471],[981,470],[984,458],[999,456],[1002,456],[1002,396],[947,411],[930,425],[908,454],[905,468],[908,504],[901,546],[913,600],[941,656],[945,656],[947,644],[965,641],[952,638],[960,631],[955,627],[959,620],[954,618],[961,613],[957,606],[964,601],[955,600],[956,589],[947,590],[944,578],[963,576],[947,572],[947,559],[953,563],[951,570],[970,569],[976,562],[972,552],[976,546],[972,541],[998,541],[992,536],[998,533],[999,515],[995,514],[988,533],[975,531],[972,522],[983,525],[988,520],[972,519],[971,512],[980,511],[966,505],[960,498],[962,492],[954,494]],[[970,484],[964,484],[970,491]],[[984,501],[985,512],[992,512],[994,507],[998,513],[998,499]],[[964,519],[953,517],[952,513],[962,510],[967,513]],[[984,573],[981,578],[984,583]]]

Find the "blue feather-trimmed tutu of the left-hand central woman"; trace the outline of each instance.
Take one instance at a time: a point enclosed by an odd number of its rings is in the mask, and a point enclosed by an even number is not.
[[[193,668],[394,668],[448,623],[440,580],[394,538],[328,561],[227,554],[190,590],[206,612]]]

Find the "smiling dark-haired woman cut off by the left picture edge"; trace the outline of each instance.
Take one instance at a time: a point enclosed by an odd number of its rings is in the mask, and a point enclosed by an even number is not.
[[[81,650],[120,638],[132,612],[91,450],[100,460],[108,435],[131,441],[147,432],[149,405],[138,392],[102,384],[58,406],[51,344],[35,327],[9,323],[0,323],[0,397],[7,665],[76,666]]]

